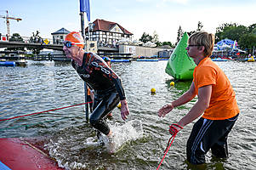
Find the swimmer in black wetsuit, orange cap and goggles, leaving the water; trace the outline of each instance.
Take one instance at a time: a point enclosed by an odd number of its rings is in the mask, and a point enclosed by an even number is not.
[[[86,53],[82,48],[84,41],[79,32],[71,32],[65,37],[63,50],[71,58],[71,65],[89,88],[94,89],[93,113],[90,124],[111,136],[111,130],[103,120],[121,101],[121,116],[127,119],[129,114],[121,79],[100,56]]]

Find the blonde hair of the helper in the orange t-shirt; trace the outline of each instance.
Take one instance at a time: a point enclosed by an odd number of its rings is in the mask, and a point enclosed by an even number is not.
[[[215,37],[212,33],[206,31],[198,31],[191,35],[189,44],[199,45],[204,47],[204,55],[209,57],[213,53]],[[200,47],[198,47],[200,48]]]

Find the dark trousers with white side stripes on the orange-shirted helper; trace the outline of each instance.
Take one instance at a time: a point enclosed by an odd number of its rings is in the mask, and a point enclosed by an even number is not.
[[[192,164],[202,164],[205,162],[205,154],[210,149],[213,156],[226,158],[228,156],[228,134],[238,115],[230,119],[215,121],[201,117],[193,126],[191,136],[187,141],[187,160]]]

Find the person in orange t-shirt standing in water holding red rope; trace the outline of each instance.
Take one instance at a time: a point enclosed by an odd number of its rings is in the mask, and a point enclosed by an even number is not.
[[[174,135],[185,125],[202,116],[194,124],[186,144],[187,160],[198,165],[205,163],[205,155],[210,149],[215,157],[228,157],[227,138],[239,115],[239,109],[229,79],[209,58],[213,52],[213,34],[196,32],[191,35],[188,44],[187,53],[196,63],[191,88],[179,99],[164,105],[158,111],[158,116],[166,116],[175,107],[184,105],[198,96],[191,111],[169,129]]]

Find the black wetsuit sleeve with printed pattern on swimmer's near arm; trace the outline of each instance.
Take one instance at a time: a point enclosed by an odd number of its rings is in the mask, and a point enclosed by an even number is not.
[[[118,77],[117,74],[114,71],[112,71],[111,68],[105,64],[105,61],[101,59],[99,56],[96,56],[94,54],[89,54],[89,55],[91,56],[88,64],[93,66],[95,70],[101,71],[104,77],[107,77],[111,82],[115,84],[120,100],[126,99],[124,90],[122,88],[121,78]]]

